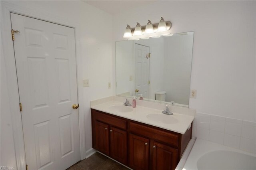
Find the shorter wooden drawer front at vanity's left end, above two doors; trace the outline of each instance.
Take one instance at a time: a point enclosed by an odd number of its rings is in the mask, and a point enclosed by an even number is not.
[[[113,117],[110,115],[106,115],[104,113],[100,113],[97,111],[93,111],[95,119],[104,123],[107,123],[109,125],[113,125],[115,127],[119,127],[122,129],[127,129],[127,121],[123,119],[119,119],[117,117]]]

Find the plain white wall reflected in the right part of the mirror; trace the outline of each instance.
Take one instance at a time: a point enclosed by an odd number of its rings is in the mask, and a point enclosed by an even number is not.
[[[188,105],[193,32],[164,38],[164,90],[166,101]]]

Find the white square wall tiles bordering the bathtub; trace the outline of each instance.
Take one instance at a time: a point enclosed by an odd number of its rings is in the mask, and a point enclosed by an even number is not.
[[[210,128],[208,128],[209,118],[210,118]],[[224,131],[216,128],[217,125],[211,126],[211,123],[218,124],[218,121],[222,126],[224,123]],[[252,129],[253,131],[247,132],[243,130],[243,127],[248,127],[248,129]],[[245,150],[247,152],[256,154],[256,147],[255,149],[249,150],[248,146],[246,147],[244,142],[241,144],[241,141],[245,141],[245,140],[246,141],[250,140],[250,143],[256,143],[256,134],[255,136],[251,135],[252,137],[250,138],[248,137],[248,134],[253,134],[255,132],[256,132],[256,122],[251,122],[251,121],[246,121],[241,119],[234,119],[230,117],[209,115],[204,113],[196,113],[196,117],[193,122],[192,139],[200,138],[204,140],[210,140],[212,142],[224,144],[226,146],[230,146],[234,148],[239,148],[240,150]],[[234,139],[236,140],[235,142],[232,141]]]

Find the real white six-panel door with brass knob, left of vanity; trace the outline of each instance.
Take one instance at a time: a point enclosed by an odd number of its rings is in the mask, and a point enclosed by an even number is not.
[[[64,170],[80,160],[74,28],[11,13],[30,170]]]

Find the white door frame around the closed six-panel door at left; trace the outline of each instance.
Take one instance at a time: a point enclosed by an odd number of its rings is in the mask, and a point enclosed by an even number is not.
[[[80,42],[80,24],[76,22],[66,21],[63,16],[56,16],[43,10],[32,10],[30,8],[24,8],[22,6],[14,5],[8,2],[0,2],[1,8],[1,49],[3,50],[4,60],[6,67],[6,77],[8,86],[8,95],[11,111],[12,129],[14,136],[14,148],[16,154],[17,169],[26,169],[26,157],[24,148],[24,137],[22,129],[21,112],[19,108],[20,99],[18,93],[18,81],[16,74],[16,64],[14,59],[14,46],[11,37],[11,18],[10,13],[20,14],[31,18],[43,20],[46,22],[52,22],[54,24],[60,24],[62,26],[68,26],[74,28],[75,31],[75,52],[76,52],[76,77],[77,77],[77,90],[78,90],[78,108],[79,117],[79,136],[80,136],[80,160],[86,158],[86,144],[85,144],[85,122],[84,122],[84,106],[83,103],[83,89],[82,89],[82,44]],[[10,34],[7,34],[10,33]],[[1,61],[3,62],[3,61]]]

